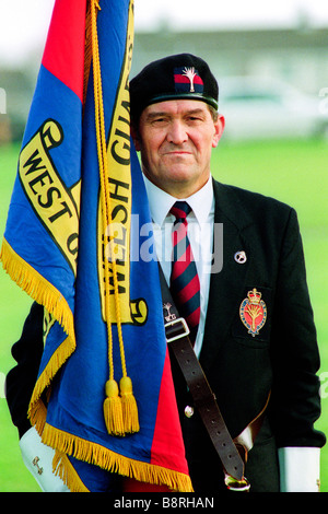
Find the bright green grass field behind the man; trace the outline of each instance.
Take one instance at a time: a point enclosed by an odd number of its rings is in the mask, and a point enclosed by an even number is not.
[[[17,147],[0,148],[1,235],[17,154]],[[214,152],[212,171],[221,182],[276,197],[297,210],[321,354],[323,416],[317,428],[328,434],[328,144],[321,141],[223,142]],[[3,377],[14,365],[10,349],[20,337],[31,300],[2,270],[0,291],[0,492],[38,491],[21,460],[16,429],[3,395]],[[328,445],[321,452],[321,491],[328,492]]]

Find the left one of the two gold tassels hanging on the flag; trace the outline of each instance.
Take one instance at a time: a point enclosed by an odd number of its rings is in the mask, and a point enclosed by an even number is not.
[[[125,435],[122,407],[117,382],[113,378],[107,381],[105,392],[104,418],[107,432],[109,435]]]

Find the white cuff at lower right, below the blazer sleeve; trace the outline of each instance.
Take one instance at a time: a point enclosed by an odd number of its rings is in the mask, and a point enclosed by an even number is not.
[[[319,492],[320,448],[278,448],[280,492]]]

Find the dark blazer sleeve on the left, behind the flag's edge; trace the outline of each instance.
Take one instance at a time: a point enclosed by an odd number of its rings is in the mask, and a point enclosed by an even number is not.
[[[22,435],[31,428],[27,410],[44,350],[44,307],[33,303],[19,341],[12,347],[16,365],[5,378],[5,397],[13,424]]]

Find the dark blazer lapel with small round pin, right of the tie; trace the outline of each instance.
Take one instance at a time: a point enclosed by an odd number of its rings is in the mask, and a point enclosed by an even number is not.
[[[199,359],[204,372],[211,366],[214,357],[220,351],[243,301],[248,260],[238,264],[235,255],[243,250],[246,256],[248,255],[248,245],[243,236],[243,229],[253,223],[233,188],[215,180],[213,180],[213,187],[214,223],[223,225],[223,247],[214,248],[214,255],[218,252],[223,252],[223,266],[221,271],[212,273],[210,279],[204,339]]]

